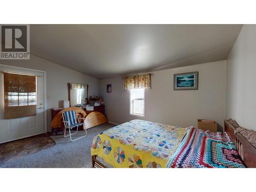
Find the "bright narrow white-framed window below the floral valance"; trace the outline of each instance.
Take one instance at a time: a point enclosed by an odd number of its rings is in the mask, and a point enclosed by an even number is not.
[[[132,89],[130,90],[130,114],[143,116],[145,109],[145,90],[144,89]]]

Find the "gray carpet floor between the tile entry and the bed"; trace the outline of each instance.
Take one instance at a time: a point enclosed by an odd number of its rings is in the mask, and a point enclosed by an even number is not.
[[[114,126],[116,125],[105,123],[92,127],[87,130],[86,137],[73,142],[70,141],[69,137],[64,138],[63,135],[51,136],[56,143],[53,147],[7,162],[1,167],[92,167],[91,144],[93,138],[102,131]],[[78,131],[76,135],[82,136],[84,134],[85,131]],[[74,135],[74,138],[76,137]]]

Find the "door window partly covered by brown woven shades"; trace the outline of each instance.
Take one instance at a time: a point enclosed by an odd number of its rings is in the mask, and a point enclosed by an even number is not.
[[[4,73],[5,119],[36,115],[36,77]]]

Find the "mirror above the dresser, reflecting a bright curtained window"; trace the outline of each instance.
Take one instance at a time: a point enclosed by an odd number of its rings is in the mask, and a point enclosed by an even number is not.
[[[88,98],[88,84],[68,83],[70,106],[80,106]]]

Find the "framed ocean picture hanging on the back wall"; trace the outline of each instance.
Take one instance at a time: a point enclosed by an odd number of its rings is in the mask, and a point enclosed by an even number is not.
[[[174,90],[197,90],[198,71],[174,74]]]

